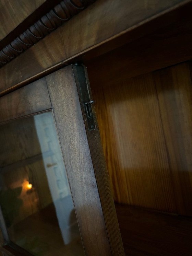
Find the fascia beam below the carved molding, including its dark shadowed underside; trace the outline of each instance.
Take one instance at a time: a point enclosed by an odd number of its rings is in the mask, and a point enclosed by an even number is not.
[[[63,62],[66,65],[92,59],[190,15],[191,0],[156,2],[96,1],[30,47],[25,54],[3,66],[0,69],[1,95],[54,71]],[[176,45],[173,37],[172,44]]]

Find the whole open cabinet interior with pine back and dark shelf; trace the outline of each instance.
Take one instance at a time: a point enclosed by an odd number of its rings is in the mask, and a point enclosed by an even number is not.
[[[190,29],[180,21],[85,63],[128,255],[191,253]]]

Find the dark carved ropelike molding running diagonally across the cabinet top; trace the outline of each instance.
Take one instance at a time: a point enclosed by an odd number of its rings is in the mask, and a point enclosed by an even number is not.
[[[0,51],[0,67],[21,54],[96,0],[63,0]]]

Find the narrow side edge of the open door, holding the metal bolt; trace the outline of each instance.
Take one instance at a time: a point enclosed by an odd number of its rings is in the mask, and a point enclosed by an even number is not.
[[[83,113],[89,149],[92,156],[92,162],[95,172],[95,177],[97,181],[97,187],[99,191],[101,206],[103,209],[103,214],[105,218],[105,224],[108,232],[109,242],[111,246],[111,251],[113,255],[124,255],[124,248],[122,244],[121,234],[119,230],[119,224],[117,219],[117,213],[115,210],[114,200],[112,197],[112,191],[109,182],[109,175],[107,172],[107,165],[105,161],[105,156],[103,152],[103,147],[101,144],[101,138],[99,134],[96,113],[94,105],[92,105],[93,116],[95,119],[96,129],[88,130],[87,120],[85,116],[83,101],[81,98],[81,84],[85,83],[88,86],[90,100],[93,99],[91,88],[89,84],[88,74],[84,66],[73,65],[73,72],[76,81],[77,91],[79,93],[81,109]],[[83,74],[83,75],[82,75]]]

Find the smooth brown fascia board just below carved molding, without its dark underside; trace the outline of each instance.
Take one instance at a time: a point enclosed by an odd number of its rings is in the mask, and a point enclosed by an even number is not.
[[[62,60],[83,54],[87,49],[132,30],[149,18],[153,20],[154,15],[168,8],[174,8],[177,3],[182,2],[182,0],[98,0],[57,31],[29,48],[25,54],[2,67],[0,89],[4,91]],[[161,22],[156,25],[161,26]],[[149,33],[150,30],[144,31]],[[8,73],[9,76],[6,75]]]

